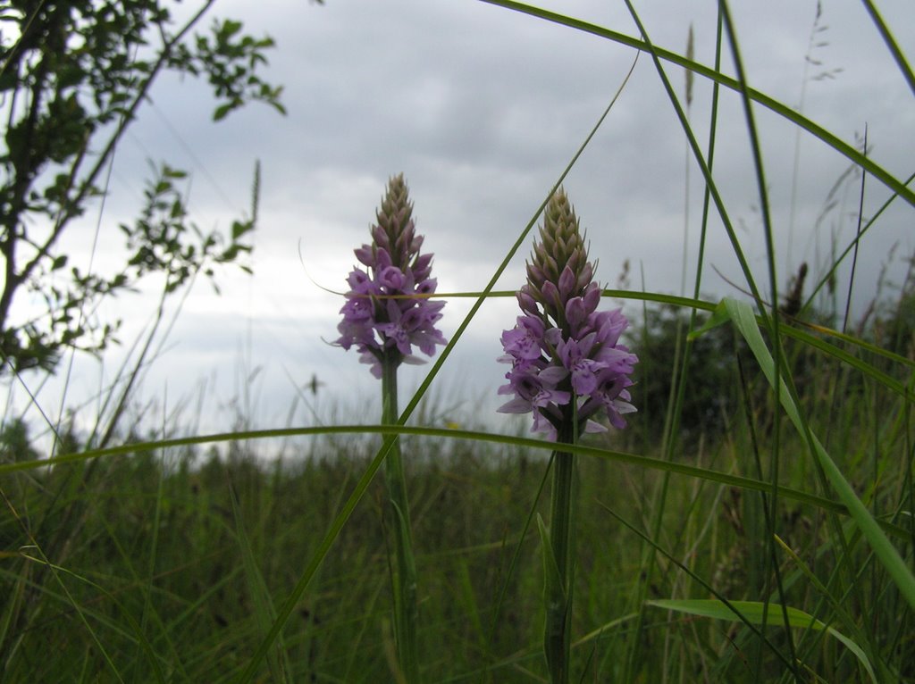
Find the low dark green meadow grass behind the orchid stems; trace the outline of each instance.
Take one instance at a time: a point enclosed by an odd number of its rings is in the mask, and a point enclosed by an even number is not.
[[[877,427],[893,433],[890,424]],[[869,440],[854,432],[837,441],[860,445],[843,450],[844,465],[864,486],[873,479],[868,454],[860,453],[869,452]],[[424,457],[440,439],[411,436],[404,444],[424,679],[537,680],[544,671],[544,578],[537,535],[530,527],[524,534],[524,521],[533,510],[546,515],[548,453],[460,441],[448,456]],[[875,491],[875,510],[898,507],[894,440],[899,435],[880,444],[887,455],[873,464],[896,483],[881,496]],[[744,425],[680,458],[698,472],[752,476],[752,441]],[[796,438],[782,442],[786,454],[802,451]],[[176,447],[103,456],[92,461],[101,464],[92,473],[82,460],[6,476],[5,496],[17,518],[7,518],[4,537],[17,551],[3,569],[10,590],[5,677],[235,679],[269,627],[263,615],[275,615],[318,548],[316,530],[339,514],[370,460],[364,451],[306,447],[270,465],[238,446],[224,458]],[[638,532],[651,529],[665,471],[611,458],[586,457],[581,466],[573,662],[587,679],[622,680],[636,638],[636,680],[784,676],[786,636],[774,609],[763,638],[737,620],[700,619],[651,603],[710,597],[709,587],[731,601],[764,597],[770,527],[786,546],[779,555],[785,603],[853,639],[874,668],[880,662],[900,679],[911,677],[910,611],[847,516],[785,497],[770,524],[758,491],[673,475],[662,532],[649,538],[658,554],[639,619],[646,573]],[[801,479],[802,470],[793,464],[786,483]],[[382,484],[372,483],[289,616],[282,647],[272,654],[275,666],[265,664],[260,677],[392,679],[385,506]],[[33,546],[33,538],[46,541]],[[810,672],[825,681],[867,679],[834,637],[799,628],[794,639],[803,679]],[[55,645],[50,652],[48,643]]]

